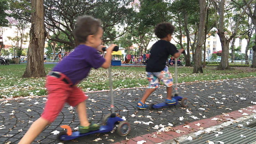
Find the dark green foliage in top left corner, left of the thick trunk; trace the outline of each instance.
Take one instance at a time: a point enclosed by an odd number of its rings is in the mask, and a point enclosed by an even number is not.
[[[0,27],[8,27],[9,21],[6,19],[9,14],[5,13],[9,10],[8,0],[0,0]]]

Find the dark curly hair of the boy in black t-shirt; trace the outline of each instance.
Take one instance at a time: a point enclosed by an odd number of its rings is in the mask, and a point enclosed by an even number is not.
[[[162,22],[156,25],[154,29],[154,33],[157,38],[162,39],[165,38],[168,34],[173,34],[175,27],[168,22]]]

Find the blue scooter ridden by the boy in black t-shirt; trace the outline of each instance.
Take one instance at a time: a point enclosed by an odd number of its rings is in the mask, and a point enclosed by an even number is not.
[[[174,94],[174,99],[176,100],[176,103],[173,103],[173,104],[167,104],[165,102],[162,102],[162,103],[158,103],[158,104],[151,104],[150,105],[150,109],[158,109],[158,108],[161,108],[163,106],[170,106],[170,105],[176,105],[176,104],[179,104],[178,101],[181,101],[180,105],[182,107],[186,107],[187,106],[187,98],[183,98],[183,97],[180,97],[178,96],[178,92],[177,92],[177,59],[175,58],[175,94]]]

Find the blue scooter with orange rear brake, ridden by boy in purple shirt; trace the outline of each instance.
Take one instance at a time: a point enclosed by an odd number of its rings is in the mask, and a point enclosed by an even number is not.
[[[105,51],[105,47],[102,48],[103,51]],[[113,51],[118,51],[119,47],[115,46]],[[68,125],[62,125],[60,126],[63,129],[67,129],[67,131],[62,131],[58,134],[57,138],[61,141],[67,141],[72,140],[75,138],[78,138],[80,136],[85,136],[93,133],[104,133],[104,132],[110,132],[113,130],[116,124],[118,124],[117,127],[117,133],[120,136],[127,135],[130,130],[131,126],[128,123],[128,121],[123,120],[122,118],[119,118],[114,113],[114,98],[113,98],[113,88],[112,88],[112,74],[111,74],[111,66],[109,67],[109,87],[110,87],[110,97],[111,97],[111,114],[107,114],[103,117],[103,125],[95,131],[89,131],[87,133],[80,133],[79,131],[72,132],[72,129]]]

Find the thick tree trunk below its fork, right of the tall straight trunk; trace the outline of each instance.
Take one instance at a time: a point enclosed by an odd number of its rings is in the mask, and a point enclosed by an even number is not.
[[[225,38],[224,32],[218,32],[219,38],[221,39],[221,46],[222,46],[222,54],[221,54],[221,63],[219,63],[219,66],[217,67],[217,70],[226,70],[229,69],[228,64],[228,46],[229,42]]]

